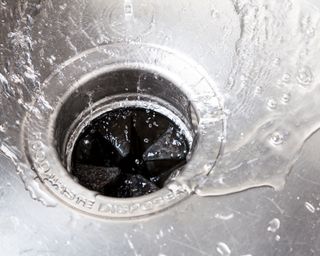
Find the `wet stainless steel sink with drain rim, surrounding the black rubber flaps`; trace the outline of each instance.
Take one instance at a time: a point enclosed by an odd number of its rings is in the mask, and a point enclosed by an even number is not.
[[[319,255],[319,5],[0,0],[1,255]],[[186,138],[153,193],[72,175],[83,129],[121,108]]]

